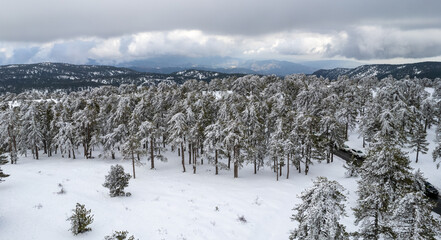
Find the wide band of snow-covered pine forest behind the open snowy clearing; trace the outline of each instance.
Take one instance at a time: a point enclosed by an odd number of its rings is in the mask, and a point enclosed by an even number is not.
[[[4,94],[0,137],[13,163],[17,154],[93,158],[97,149],[99,157],[119,152],[133,166],[147,157],[155,168],[170,147],[184,172],[188,164],[196,173],[198,164],[209,163],[216,174],[233,168],[238,177],[244,164],[254,173],[266,164],[277,179],[288,178],[290,167],[308,174],[314,161],[332,162],[357,124],[364,143],[390,139],[427,152],[426,130],[441,114],[435,101],[441,87],[433,84],[433,98],[419,79],[306,75]],[[440,155],[437,148],[434,158]]]

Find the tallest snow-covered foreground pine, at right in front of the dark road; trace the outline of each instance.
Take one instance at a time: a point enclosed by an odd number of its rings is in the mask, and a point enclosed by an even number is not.
[[[412,189],[409,159],[390,142],[377,142],[360,168],[360,177],[353,209],[355,224],[361,223],[357,235],[363,239],[396,237],[390,223],[394,203]]]

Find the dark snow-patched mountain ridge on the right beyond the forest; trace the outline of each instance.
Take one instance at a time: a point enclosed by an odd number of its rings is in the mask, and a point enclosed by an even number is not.
[[[356,68],[334,68],[315,71],[313,75],[329,79],[337,79],[338,76],[346,75],[351,78],[376,77],[385,78],[389,75],[396,79],[406,76],[410,78],[440,78],[441,62],[420,62],[409,64],[371,64],[362,65]]]

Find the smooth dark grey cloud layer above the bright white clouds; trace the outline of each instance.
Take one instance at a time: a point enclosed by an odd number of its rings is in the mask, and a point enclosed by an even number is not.
[[[441,26],[439,9],[438,0],[6,0],[0,8],[0,39],[107,38],[174,29],[249,36],[375,23],[426,28]]]

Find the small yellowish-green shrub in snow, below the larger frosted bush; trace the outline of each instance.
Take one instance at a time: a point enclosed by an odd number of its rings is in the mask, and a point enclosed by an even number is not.
[[[90,214],[91,210],[87,210],[84,205],[77,203],[72,211],[73,215],[67,219],[71,223],[70,231],[74,235],[91,231],[92,229],[88,227],[93,222],[93,215]]]

